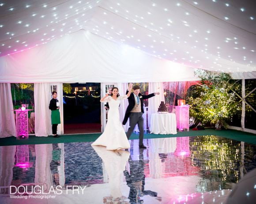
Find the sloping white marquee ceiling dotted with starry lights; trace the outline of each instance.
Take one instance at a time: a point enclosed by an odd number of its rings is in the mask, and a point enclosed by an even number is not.
[[[256,71],[254,0],[0,0],[0,56],[85,29],[158,58]]]

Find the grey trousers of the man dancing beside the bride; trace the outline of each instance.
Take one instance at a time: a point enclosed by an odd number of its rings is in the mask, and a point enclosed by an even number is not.
[[[144,129],[143,129],[143,117],[142,117],[143,113],[139,112],[139,113],[130,113],[129,116],[129,122],[130,122],[130,127],[126,133],[127,138],[129,139],[130,136],[132,135],[132,132],[134,130],[134,127],[136,126],[136,124],[138,124],[139,127],[139,146],[143,145],[143,137],[144,137]]]

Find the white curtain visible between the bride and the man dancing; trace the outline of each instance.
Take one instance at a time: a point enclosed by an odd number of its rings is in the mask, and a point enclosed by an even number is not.
[[[126,90],[128,89],[128,83],[117,83],[117,87],[118,87],[118,90],[119,90],[119,94],[120,95],[125,95]],[[119,113],[120,113],[121,123],[124,120],[124,115],[125,115],[125,111],[127,109],[128,104],[129,104],[128,99],[122,100],[121,103],[120,103]],[[129,120],[125,125],[123,125],[123,127],[124,127],[124,131],[128,131]]]

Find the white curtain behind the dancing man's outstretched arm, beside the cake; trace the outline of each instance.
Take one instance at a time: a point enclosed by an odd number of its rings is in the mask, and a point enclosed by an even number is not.
[[[151,114],[157,113],[158,107],[161,101],[165,102],[164,87],[162,82],[150,82],[148,83],[148,93],[159,92],[159,95],[155,95],[148,99],[148,126],[151,126]]]

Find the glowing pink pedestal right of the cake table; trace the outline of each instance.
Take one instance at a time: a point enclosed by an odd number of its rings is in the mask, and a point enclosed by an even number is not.
[[[189,131],[189,106],[175,106],[177,129]]]

